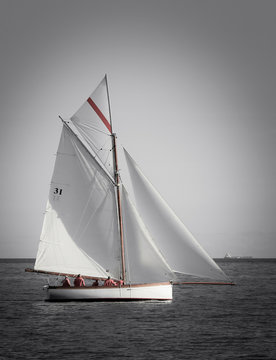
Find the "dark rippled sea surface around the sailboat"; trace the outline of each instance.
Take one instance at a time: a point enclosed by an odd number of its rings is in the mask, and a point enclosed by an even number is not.
[[[276,359],[276,260],[219,260],[237,286],[172,302],[45,302],[32,261],[0,260],[0,359]]]

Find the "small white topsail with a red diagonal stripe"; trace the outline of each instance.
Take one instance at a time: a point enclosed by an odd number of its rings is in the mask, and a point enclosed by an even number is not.
[[[111,120],[106,77],[71,117],[82,138],[91,147],[98,161],[114,176]]]

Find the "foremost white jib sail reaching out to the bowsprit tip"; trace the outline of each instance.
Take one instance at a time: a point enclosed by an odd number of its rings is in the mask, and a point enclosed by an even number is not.
[[[176,272],[228,280],[198,244],[125,150],[139,213],[154,242]]]

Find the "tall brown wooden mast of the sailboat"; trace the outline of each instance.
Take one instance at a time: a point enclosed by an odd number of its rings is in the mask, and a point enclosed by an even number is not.
[[[123,233],[123,219],[122,219],[122,206],[121,206],[121,194],[120,194],[120,179],[119,179],[119,168],[118,168],[118,157],[117,157],[117,145],[116,145],[116,134],[113,133],[112,121],[111,121],[111,108],[109,100],[109,91],[107,83],[107,75],[105,74],[105,82],[107,89],[107,99],[109,108],[110,125],[112,130],[112,143],[113,143],[113,159],[114,159],[114,179],[116,183],[117,192],[117,205],[118,205],[118,217],[119,217],[119,228],[120,228],[120,241],[121,241],[121,261],[122,261],[122,280],[125,283],[126,280],[126,268],[125,268],[125,251],[124,251],[124,233]]]

